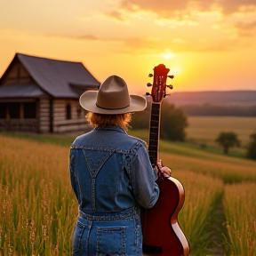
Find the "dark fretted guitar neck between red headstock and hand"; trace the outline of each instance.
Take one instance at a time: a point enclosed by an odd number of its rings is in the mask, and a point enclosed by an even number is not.
[[[148,155],[151,164],[157,164],[158,160],[158,145],[160,134],[160,109],[161,104],[152,103],[150,127],[149,127],[149,139],[148,139]]]

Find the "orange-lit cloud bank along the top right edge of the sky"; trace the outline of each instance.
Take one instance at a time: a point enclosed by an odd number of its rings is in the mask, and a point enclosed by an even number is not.
[[[129,14],[154,13],[158,19],[188,20],[199,12],[220,12],[223,17],[237,12],[256,12],[255,0],[121,0],[105,15],[119,21],[129,20]]]

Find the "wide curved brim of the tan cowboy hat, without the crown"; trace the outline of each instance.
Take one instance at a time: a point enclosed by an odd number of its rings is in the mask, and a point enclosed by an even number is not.
[[[147,101],[140,95],[130,95],[130,105],[126,108],[99,108],[96,105],[98,91],[84,92],[79,99],[82,108],[92,113],[116,115],[142,111],[147,108]]]

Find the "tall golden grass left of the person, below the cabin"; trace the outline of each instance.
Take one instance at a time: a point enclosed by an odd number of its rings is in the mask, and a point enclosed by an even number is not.
[[[0,254],[70,255],[68,148],[0,136]]]

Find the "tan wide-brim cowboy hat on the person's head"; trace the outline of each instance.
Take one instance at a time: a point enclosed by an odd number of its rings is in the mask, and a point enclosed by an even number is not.
[[[144,110],[147,101],[140,95],[129,95],[127,84],[120,76],[108,76],[98,91],[84,92],[79,103],[87,111],[116,115]]]

